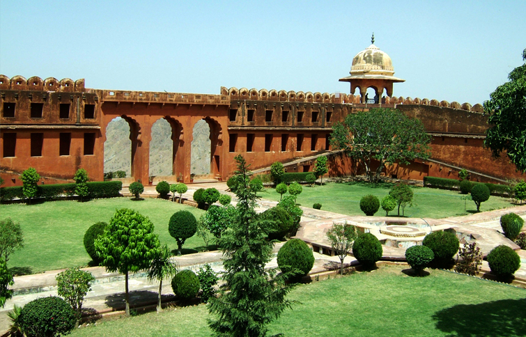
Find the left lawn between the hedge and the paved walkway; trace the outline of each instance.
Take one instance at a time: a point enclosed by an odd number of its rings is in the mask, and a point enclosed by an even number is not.
[[[24,233],[24,248],[10,256],[8,267],[19,274],[32,274],[46,270],[87,266],[91,258],[84,249],[84,233],[98,221],[109,222],[118,208],[131,208],[150,218],[161,244],[177,249],[176,240],[168,233],[168,221],[178,210],[189,210],[197,219],[203,214],[187,205],[162,199],[130,198],[77,201],[50,201],[37,205],[0,205],[0,217],[20,222]],[[183,246],[183,253],[203,249],[204,242],[194,235]],[[174,252],[176,253],[176,252]]]

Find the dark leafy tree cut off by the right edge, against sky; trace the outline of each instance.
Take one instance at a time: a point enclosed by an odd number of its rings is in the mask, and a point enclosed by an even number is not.
[[[508,78],[509,82],[497,87],[484,102],[484,112],[490,113],[484,146],[495,157],[506,151],[517,169],[526,172],[526,62],[513,69]]]

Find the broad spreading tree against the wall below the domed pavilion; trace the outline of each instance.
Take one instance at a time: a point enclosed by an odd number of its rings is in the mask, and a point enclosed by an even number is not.
[[[410,160],[431,155],[431,136],[421,121],[396,109],[349,113],[343,123],[335,123],[332,129],[332,146],[359,160],[371,182],[380,179],[386,164],[409,164]],[[373,170],[377,162],[378,167]]]

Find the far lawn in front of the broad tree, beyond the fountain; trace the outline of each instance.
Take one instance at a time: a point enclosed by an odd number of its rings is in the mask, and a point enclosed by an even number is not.
[[[348,215],[364,215],[359,209],[359,200],[362,196],[373,194],[378,196],[380,201],[389,194],[392,184],[370,184],[366,182],[336,183],[330,182],[326,185],[309,187],[303,185],[302,194],[297,196],[297,203],[305,207],[312,207],[314,203],[321,203],[322,210]],[[430,189],[427,187],[411,187],[414,193],[412,207],[405,207],[405,217],[429,217],[445,218],[456,215],[470,214],[477,211],[473,201],[467,201],[464,212],[464,201],[461,199],[463,194],[458,191],[447,191],[444,189]],[[279,194],[275,189],[265,189],[259,194],[262,198],[279,201]],[[288,194],[284,194],[286,196]],[[481,212],[497,210],[510,207],[511,203],[506,198],[490,196],[490,199],[481,204]],[[396,209],[389,212],[389,215],[396,215]],[[400,211],[402,214],[402,211]],[[385,215],[385,211],[380,210],[376,216]]]

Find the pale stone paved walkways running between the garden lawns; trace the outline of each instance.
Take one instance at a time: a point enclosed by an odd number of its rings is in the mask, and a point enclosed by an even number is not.
[[[183,200],[192,200],[192,195],[196,189],[215,187],[222,191],[226,191],[228,187],[226,182],[203,182],[200,184],[193,184],[188,186],[187,193],[183,194]],[[123,188],[123,194],[128,194],[127,187]],[[230,194],[233,196],[233,194]],[[156,197],[157,192],[155,187],[145,187],[144,197]],[[233,202],[235,198],[233,196]],[[257,210],[259,212],[274,207],[277,202],[261,200],[258,203]],[[382,221],[383,217],[349,217],[343,214],[326,212],[323,210],[314,210],[307,207],[302,207],[304,216],[302,217],[302,230],[298,236],[310,237],[323,242],[325,240],[325,232],[327,228],[332,226],[333,221],[352,220],[352,221]],[[477,244],[481,246],[484,253],[488,253],[490,249],[498,244],[507,244],[516,249],[516,245],[509,241],[500,233],[499,219],[502,214],[507,212],[516,212],[521,217],[526,218],[526,205],[520,207],[507,208],[506,210],[496,210],[491,212],[484,212],[472,214],[466,217],[451,217],[447,219],[426,219],[431,224],[449,224],[454,226],[457,232],[469,233],[477,240]],[[396,219],[389,217],[389,221],[396,221]],[[407,221],[408,218],[403,218]],[[416,221],[416,220],[415,220]],[[433,222],[434,221],[434,222]],[[282,244],[274,246],[274,252],[277,252]],[[405,249],[384,246],[384,256],[403,256]],[[518,252],[521,258],[521,268],[516,272],[516,276],[526,279],[526,251]],[[315,252],[314,256],[316,262],[312,272],[323,272],[328,269],[334,269],[339,263],[337,256],[321,255]],[[222,253],[217,251],[195,253],[186,256],[178,256],[175,258],[180,269],[198,270],[201,265],[210,264],[212,269],[216,272],[222,271]],[[355,258],[348,256],[346,263],[355,262]],[[276,259],[272,259],[268,267],[276,267]],[[483,268],[489,270],[487,262],[484,261]],[[124,276],[118,273],[107,273],[104,267],[90,267],[84,270],[91,272],[95,276],[95,283],[92,290],[86,295],[84,308],[92,308],[100,313],[108,311],[123,310],[124,306]],[[6,302],[4,308],[0,308],[0,334],[6,331],[9,327],[9,320],[6,313],[13,309],[14,304],[23,306],[24,304],[36,299],[38,297],[46,297],[56,295],[56,281],[55,276],[62,272],[61,270],[49,271],[42,274],[32,274],[15,277],[15,296]],[[157,282],[151,282],[146,279],[144,273],[132,274],[130,276],[130,301],[132,306],[144,306],[148,304],[155,304],[157,300],[157,290],[159,285]],[[162,294],[164,299],[173,298],[171,285],[169,280],[163,282]]]

